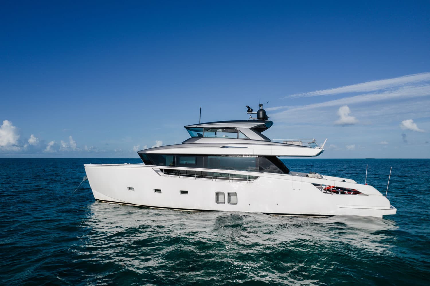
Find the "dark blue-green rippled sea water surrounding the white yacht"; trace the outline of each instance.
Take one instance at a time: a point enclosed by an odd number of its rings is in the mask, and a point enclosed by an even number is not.
[[[289,159],[367,182],[397,214],[273,217],[95,202],[84,163],[0,159],[1,285],[429,285],[430,160]]]

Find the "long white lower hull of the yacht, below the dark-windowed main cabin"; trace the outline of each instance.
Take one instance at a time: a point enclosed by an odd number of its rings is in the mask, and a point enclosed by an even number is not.
[[[168,167],[143,164],[85,165],[94,198],[104,202],[187,211],[242,211],[294,216],[382,217],[396,213],[396,208],[375,188],[351,182],[335,182],[334,177],[323,180],[272,173],[228,171],[258,176],[252,181],[235,181],[225,178],[166,175],[160,168]],[[363,194],[325,193],[317,188],[316,184],[343,184]],[[224,203],[217,203],[216,193],[223,193]],[[230,194],[233,194],[231,202]]]

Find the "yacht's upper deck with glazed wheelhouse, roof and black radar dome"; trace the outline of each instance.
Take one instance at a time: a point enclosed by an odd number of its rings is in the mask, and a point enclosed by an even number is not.
[[[271,141],[262,134],[273,125],[273,121],[268,120],[266,111],[260,108],[257,112],[252,112],[252,108],[248,105],[247,108],[248,113],[257,114],[257,118],[187,125],[184,127],[190,134],[190,138],[182,144],[141,150],[138,154],[139,156],[140,154],[213,154],[313,157],[324,151],[316,142],[305,146]]]

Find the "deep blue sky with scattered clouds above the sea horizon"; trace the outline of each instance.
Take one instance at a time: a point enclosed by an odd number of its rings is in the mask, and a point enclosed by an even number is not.
[[[137,157],[184,125],[430,158],[430,2],[20,2],[0,11],[0,157]]]

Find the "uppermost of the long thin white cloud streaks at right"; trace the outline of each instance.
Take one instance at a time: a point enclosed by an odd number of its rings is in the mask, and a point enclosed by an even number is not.
[[[296,93],[290,96],[286,96],[285,98],[333,95],[338,93],[371,92],[375,90],[396,88],[403,85],[418,84],[422,81],[430,81],[430,72],[418,73],[414,75],[404,75],[398,78],[367,81],[359,84],[346,85],[325,90],[315,90],[306,93]]]

